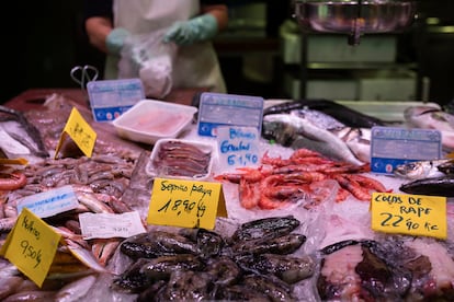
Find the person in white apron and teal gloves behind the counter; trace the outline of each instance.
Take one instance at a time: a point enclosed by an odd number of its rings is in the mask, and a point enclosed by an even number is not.
[[[223,1],[86,0],[84,5],[89,42],[106,54],[105,80],[118,79],[118,62],[124,48],[130,47],[127,45],[130,37],[163,30],[162,40],[177,45],[172,88],[204,88],[226,93],[211,42],[227,26],[228,9]]]

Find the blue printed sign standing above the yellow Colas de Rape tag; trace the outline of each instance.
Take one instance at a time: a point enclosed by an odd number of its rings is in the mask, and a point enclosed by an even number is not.
[[[406,129],[375,126],[371,133],[371,171],[393,174],[410,161],[436,160],[442,155],[441,132],[434,129]]]

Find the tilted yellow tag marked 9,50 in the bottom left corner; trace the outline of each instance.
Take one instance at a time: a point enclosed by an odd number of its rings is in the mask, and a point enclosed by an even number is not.
[[[22,209],[0,254],[41,287],[46,279],[61,235],[27,208]]]

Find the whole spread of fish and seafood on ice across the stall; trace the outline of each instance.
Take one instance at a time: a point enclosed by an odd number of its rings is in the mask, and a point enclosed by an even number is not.
[[[39,109],[21,113],[3,108],[2,125],[13,120],[25,130],[30,143],[14,139],[15,130],[5,128],[11,141],[29,146],[29,153],[22,154],[29,164],[2,167],[2,246],[9,244],[5,240],[24,199],[70,186],[77,206],[43,218],[63,240],[41,286],[1,258],[0,280],[5,286],[0,298],[452,300],[453,162],[449,158],[412,162],[396,174],[383,175],[371,172],[367,153],[367,133],[375,125],[401,123],[410,127],[409,123],[417,123],[423,113],[442,114],[441,108],[408,104],[400,111],[401,119],[384,121],[382,116],[370,116],[352,106],[317,102],[265,101],[259,164],[229,171],[217,163],[216,140],[198,136],[195,121],[171,135],[154,135],[152,143],[146,143],[143,137],[120,135],[113,124],[94,123],[83,102],[58,93],[46,95]],[[93,153],[81,154],[65,141],[54,156],[73,107],[98,135]],[[326,115],[328,108],[330,115]],[[412,113],[418,108],[425,111]],[[443,136],[444,150],[450,150],[454,130],[443,131],[447,133]],[[10,150],[11,156],[13,152]],[[157,176],[222,184],[227,217],[217,217],[213,230],[149,224]],[[411,186],[421,179],[432,181]],[[373,194],[405,194],[407,188],[409,194],[441,193],[447,198],[445,239],[371,228]],[[81,230],[82,218],[89,214],[114,214],[120,224],[126,219],[122,214],[134,212],[139,222],[134,235],[87,236]],[[115,224],[103,223],[92,232]]]

